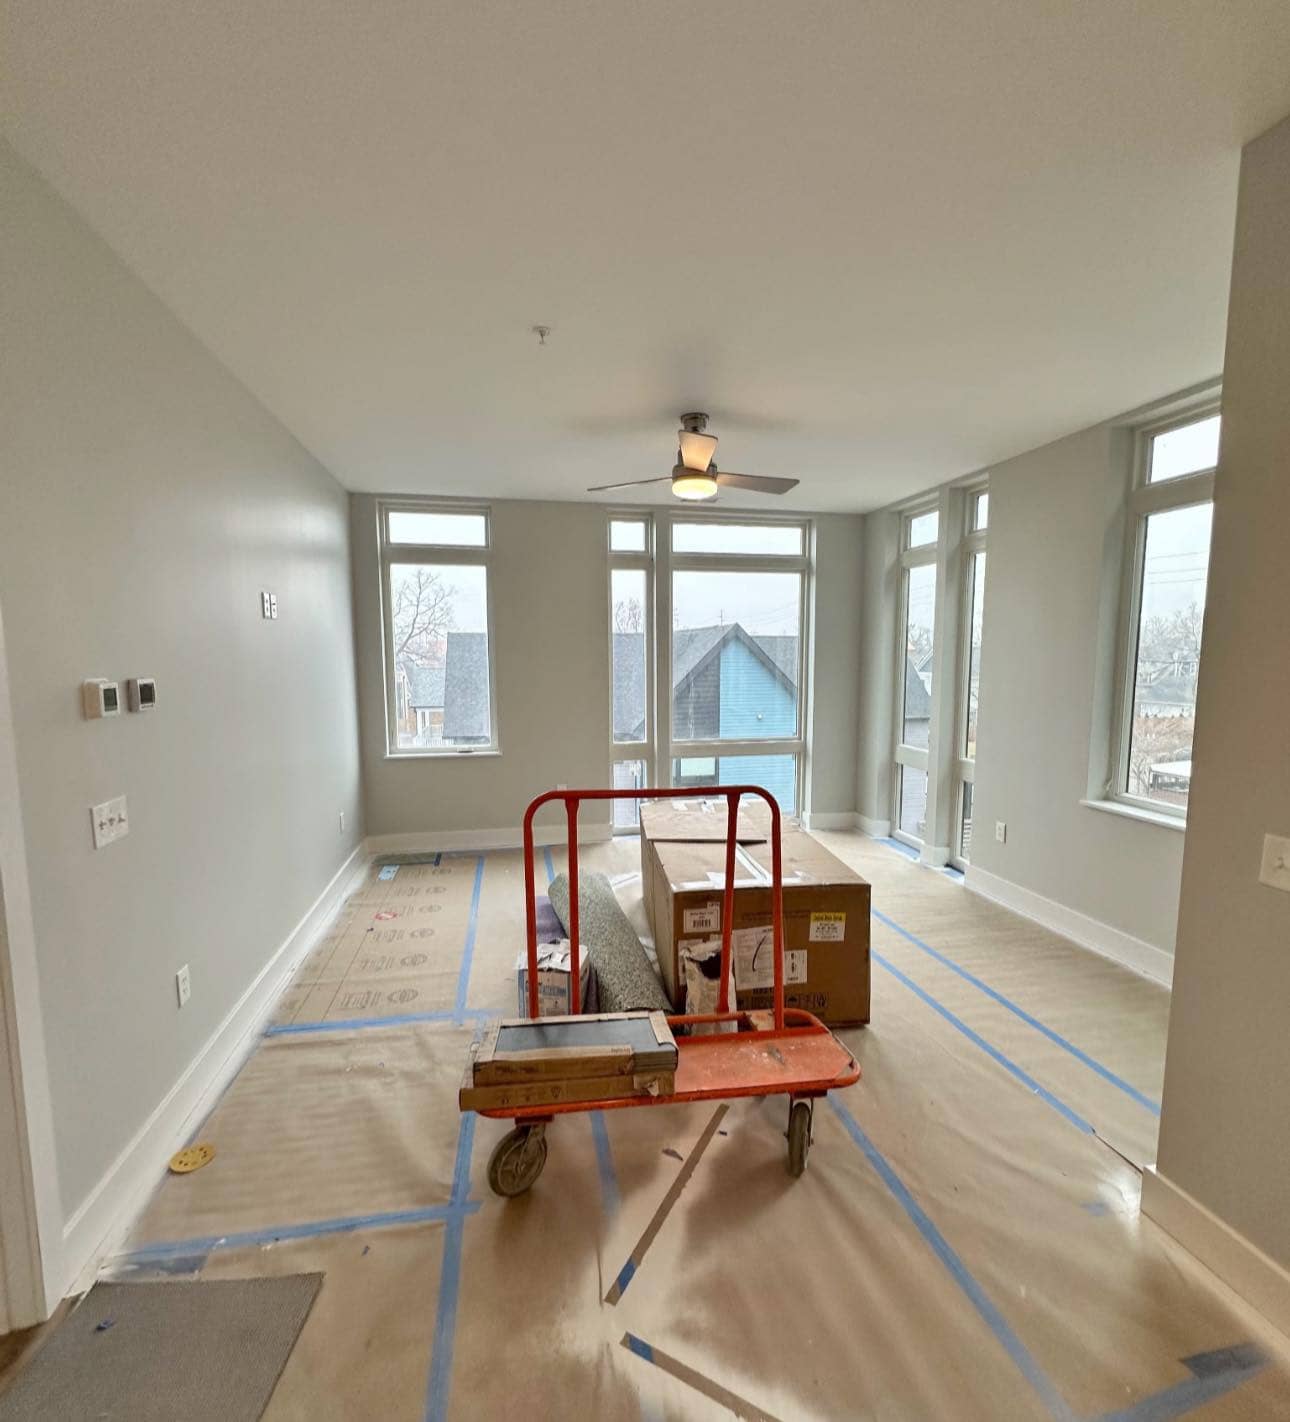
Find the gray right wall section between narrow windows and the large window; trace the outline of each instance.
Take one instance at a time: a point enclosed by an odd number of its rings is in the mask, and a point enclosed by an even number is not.
[[[990,471],[973,869],[1172,953],[1185,836],[1080,803],[1107,775],[1131,459],[1108,424]]]

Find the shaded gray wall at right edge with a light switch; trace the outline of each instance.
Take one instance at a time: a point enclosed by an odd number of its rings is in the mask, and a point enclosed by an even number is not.
[[[1242,161],[1159,1170],[1290,1267],[1290,119]]]

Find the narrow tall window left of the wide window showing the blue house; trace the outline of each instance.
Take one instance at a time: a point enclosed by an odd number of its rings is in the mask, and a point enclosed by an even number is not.
[[[653,779],[654,702],[653,526],[647,518],[609,520],[609,636],[613,788],[641,789]],[[613,828],[640,823],[640,801],[613,801]]]

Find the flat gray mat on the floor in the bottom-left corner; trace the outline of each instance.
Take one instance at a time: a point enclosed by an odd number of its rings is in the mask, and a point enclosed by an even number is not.
[[[0,1394],[0,1422],[256,1422],[321,1283],[95,1284]]]

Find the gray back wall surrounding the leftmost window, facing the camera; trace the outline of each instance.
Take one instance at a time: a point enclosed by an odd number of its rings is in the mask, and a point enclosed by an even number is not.
[[[542,791],[610,776],[606,509],[496,499],[494,636],[501,755],[385,754],[375,499],[351,496],[363,776],[370,835],[509,830]],[[855,808],[860,519],[816,519],[812,809]],[[548,816],[550,823],[559,816]],[[606,825],[595,806],[580,823]]]

